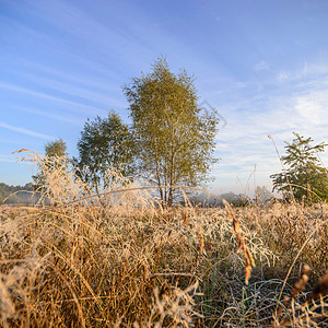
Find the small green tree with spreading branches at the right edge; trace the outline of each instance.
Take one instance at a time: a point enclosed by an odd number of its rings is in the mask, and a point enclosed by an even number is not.
[[[313,139],[294,133],[292,143],[286,142],[286,154],[281,157],[284,172],[272,174],[273,190],[282,191],[290,199],[328,200],[328,173],[320,166],[318,153],[325,151],[326,143],[313,145]]]

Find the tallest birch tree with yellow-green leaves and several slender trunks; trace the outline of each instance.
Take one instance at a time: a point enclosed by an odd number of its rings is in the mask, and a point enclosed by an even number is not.
[[[172,206],[175,185],[203,183],[213,157],[218,118],[197,105],[194,79],[171,72],[159,58],[152,71],[124,87],[130,104],[138,168],[154,177],[161,200]],[[167,187],[168,186],[168,187]]]

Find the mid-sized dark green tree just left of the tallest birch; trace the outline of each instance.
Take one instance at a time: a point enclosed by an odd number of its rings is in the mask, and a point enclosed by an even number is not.
[[[134,143],[126,124],[115,112],[106,118],[87,119],[78,142],[77,160],[82,178],[98,194],[106,187],[108,168],[119,169],[124,176],[133,173]]]

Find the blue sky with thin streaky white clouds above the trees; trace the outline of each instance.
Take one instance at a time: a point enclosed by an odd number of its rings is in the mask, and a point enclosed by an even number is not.
[[[35,174],[15,150],[62,138],[77,156],[87,118],[128,122],[122,85],[164,55],[226,120],[211,189],[243,191],[255,167],[249,188],[270,185],[268,134],[281,153],[293,131],[328,141],[327,33],[326,0],[0,0],[0,181]]]

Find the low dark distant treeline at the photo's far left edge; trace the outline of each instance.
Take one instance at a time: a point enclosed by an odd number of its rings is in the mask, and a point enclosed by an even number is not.
[[[0,183],[0,204],[30,203],[32,201],[32,184],[26,184],[25,186],[10,186],[4,183]]]

